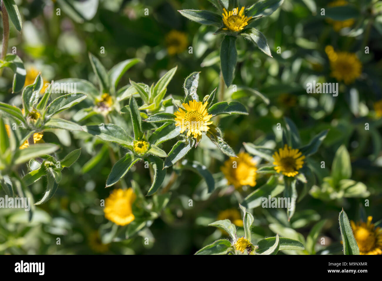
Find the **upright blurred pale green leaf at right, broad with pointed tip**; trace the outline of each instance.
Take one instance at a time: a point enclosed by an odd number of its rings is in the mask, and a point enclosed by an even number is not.
[[[334,186],[337,186],[340,180],[351,177],[350,155],[345,145],[341,145],[334,155],[331,175]]]

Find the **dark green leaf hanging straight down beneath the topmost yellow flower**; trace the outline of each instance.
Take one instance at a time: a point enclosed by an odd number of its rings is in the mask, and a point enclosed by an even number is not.
[[[220,69],[227,87],[232,84],[235,73],[237,61],[236,39],[233,36],[225,36],[220,46]]]

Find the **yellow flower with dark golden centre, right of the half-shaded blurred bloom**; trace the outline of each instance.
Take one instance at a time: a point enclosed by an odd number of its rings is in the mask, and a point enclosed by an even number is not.
[[[287,177],[294,177],[298,174],[298,170],[303,167],[305,156],[298,149],[292,149],[290,146],[285,145],[284,148],[279,148],[273,154],[274,169]]]

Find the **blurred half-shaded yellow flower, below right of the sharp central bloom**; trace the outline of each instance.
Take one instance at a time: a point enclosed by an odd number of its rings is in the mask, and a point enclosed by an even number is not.
[[[230,157],[230,159],[224,162],[221,170],[228,184],[235,186],[235,188],[242,187],[243,185],[251,187],[256,185],[256,162],[246,152],[240,152],[238,157]]]

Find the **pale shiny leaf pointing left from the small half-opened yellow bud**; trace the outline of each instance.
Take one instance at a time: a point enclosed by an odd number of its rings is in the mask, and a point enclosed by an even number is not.
[[[83,127],[86,132],[93,136],[99,136],[102,140],[112,141],[121,145],[132,146],[133,138],[123,128],[114,124],[91,125]]]

